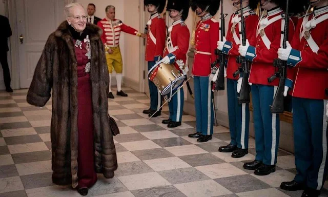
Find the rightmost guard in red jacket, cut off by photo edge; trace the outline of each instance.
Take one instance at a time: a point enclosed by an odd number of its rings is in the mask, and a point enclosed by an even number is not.
[[[279,59],[292,67],[286,84],[293,96],[297,170],[294,180],[283,182],[280,187],[291,191],[304,189],[302,196],[319,196],[326,180],[328,158],[328,0],[310,3],[313,12],[300,19],[291,44],[278,50]]]

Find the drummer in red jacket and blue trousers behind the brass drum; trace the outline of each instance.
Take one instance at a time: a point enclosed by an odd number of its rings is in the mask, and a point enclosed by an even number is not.
[[[183,75],[187,75],[186,54],[189,49],[190,33],[184,21],[188,17],[189,0],[168,0],[167,11],[169,11],[170,17],[173,19],[173,24],[168,29],[164,58],[161,62],[164,64],[174,64]],[[180,86],[177,89],[177,93],[169,102],[170,117],[162,121],[162,124],[167,124],[169,128],[175,128],[181,125],[185,96]]]

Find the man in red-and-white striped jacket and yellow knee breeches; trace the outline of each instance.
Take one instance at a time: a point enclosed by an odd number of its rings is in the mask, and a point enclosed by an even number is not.
[[[108,97],[114,99],[114,95],[111,90],[111,77],[113,69],[116,72],[116,81],[117,81],[117,93],[119,96],[128,96],[121,89],[122,83],[122,69],[123,61],[122,55],[119,49],[119,37],[121,31],[137,35],[139,37],[146,38],[146,34],[140,33],[138,30],[133,29],[125,24],[123,24],[119,19],[115,18],[115,7],[107,6],[106,7],[106,17],[98,22],[97,24],[101,29],[103,29],[103,34],[101,35],[101,40],[105,45],[106,50],[106,60],[107,67],[109,71],[109,93]]]

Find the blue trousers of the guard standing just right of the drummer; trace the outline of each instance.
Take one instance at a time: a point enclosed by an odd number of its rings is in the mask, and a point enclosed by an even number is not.
[[[213,134],[214,111],[211,81],[208,76],[194,76],[196,131]]]

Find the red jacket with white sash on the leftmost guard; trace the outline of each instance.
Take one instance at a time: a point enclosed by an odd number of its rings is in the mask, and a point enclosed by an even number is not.
[[[158,13],[156,13],[151,16],[150,21],[148,22],[146,61],[159,61],[163,57],[165,39],[165,21]]]

